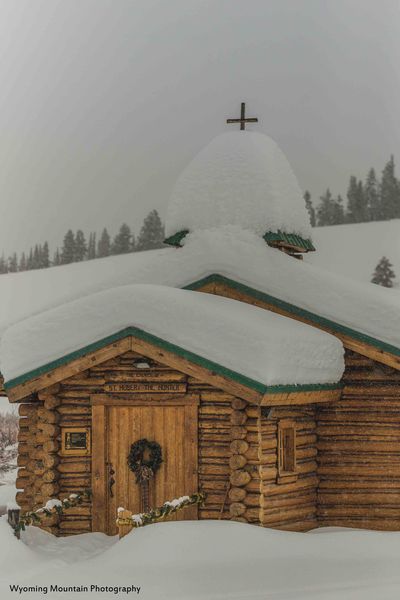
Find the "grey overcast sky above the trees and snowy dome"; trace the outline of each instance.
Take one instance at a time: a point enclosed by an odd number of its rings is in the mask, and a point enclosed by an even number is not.
[[[400,174],[399,0],[0,0],[0,251],[164,216],[246,101],[315,199]]]

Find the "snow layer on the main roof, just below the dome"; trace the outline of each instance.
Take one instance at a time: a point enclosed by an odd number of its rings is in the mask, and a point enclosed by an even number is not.
[[[165,248],[1,275],[0,330],[70,300],[112,287],[151,283],[185,287],[212,274],[264,294],[277,305],[370,336],[400,354],[400,294],[355,282],[269,248],[238,227],[197,231],[183,248]],[[37,346],[37,345],[36,345]],[[2,365],[0,363],[0,370]]]

